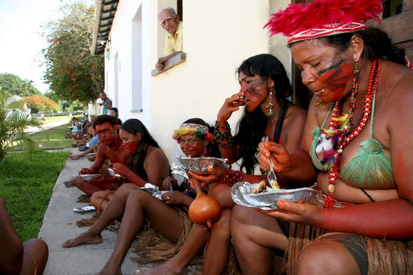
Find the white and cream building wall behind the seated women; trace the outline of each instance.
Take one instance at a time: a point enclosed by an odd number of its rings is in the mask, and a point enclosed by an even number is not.
[[[272,1],[275,2],[275,1]],[[151,76],[165,38],[160,28],[158,10],[173,0],[121,0],[112,26],[112,58],[106,61],[107,93],[114,96],[114,54],[118,53],[118,104],[122,120],[140,119],[156,138],[169,157],[175,161],[182,155],[172,140],[173,129],[184,120],[199,117],[210,124],[224,100],[236,94],[240,86],[235,69],[246,58],[255,54],[275,54],[290,73],[290,53],[286,42],[269,39],[263,26],[270,18],[270,10],[285,8],[288,1],[277,3],[251,0],[184,1],[184,52],[187,61],[160,74]],[[270,4],[271,3],[271,4]],[[176,6],[174,6],[176,8]],[[141,16],[141,17],[140,17]],[[140,21],[141,20],[141,21]],[[138,32],[141,24],[141,32]],[[141,48],[136,45],[141,39]],[[137,54],[139,50],[142,54]],[[141,67],[136,63],[141,61]],[[138,69],[142,78],[136,78]],[[139,82],[141,81],[141,84]],[[142,112],[136,113],[132,89],[142,88]],[[136,95],[134,95],[136,98]],[[135,108],[134,108],[135,107]],[[235,129],[241,111],[234,113],[230,124]]]

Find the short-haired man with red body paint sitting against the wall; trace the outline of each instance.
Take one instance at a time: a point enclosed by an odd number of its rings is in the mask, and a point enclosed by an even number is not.
[[[116,118],[112,115],[99,115],[93,122],[93,128],[102,144],[98,147],[94,164],[90,168],[82,168],[79,175],[100,173],[107,159],[110,163],[126,164],[127,162],[127,151],[121,146],[122,139],[116,133]],[[82,177],[76,177],[74,184],[90,196],[96,191],[111,190],[115,188],[114,186],[123,184],[123,180],[109,177],[107,170],[101,170],[101,172],[102,176],[99,179],[85,181]]]

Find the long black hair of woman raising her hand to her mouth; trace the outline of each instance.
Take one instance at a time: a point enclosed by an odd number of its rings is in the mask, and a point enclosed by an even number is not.
[[[246,76],[261,76],[264,79],[272,78],[275,86],[275,98],[281,103],[285,98],[293,94],[290,80],[282,65],[275,56],[271,54],[258,54],[243,61],[237,69],[237,76],[240,73]],[[264,130],[268,125],[268,119],[260,108],[249,113],[244,109],[242,118],[237,124],[237,134],[233,137],[233,154],[242,158],[241,170],[245,168],[246,173],[253,174],[255,166],[258,164],[257,153],[258,144],[264,137]]]

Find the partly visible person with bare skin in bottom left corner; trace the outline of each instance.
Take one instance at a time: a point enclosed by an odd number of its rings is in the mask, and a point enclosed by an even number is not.
[[[0,274],[43,274],[49,248],[42,239],[21,243],[6,210],[6,202],[0,199]]]

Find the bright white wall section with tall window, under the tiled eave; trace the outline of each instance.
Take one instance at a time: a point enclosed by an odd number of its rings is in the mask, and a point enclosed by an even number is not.
[[[138,118],[145,125],[150,124],[149,112],[136,113],[138,109],[149,110],[149,98],[142,91],[142,1],[121,0],[118,3],[116,16],[110,32],[111,57],[105,59],[105,79],[107,94],[118,108],[119,117],[125,121],[129,118]],[[116,56],[118,61],[116,62]],[[118,96],[116,101],[115,69],[118,67]],[[144,73],[145,74],[145,73]],[[150,74],[150,72],[149,72]],[[140,76],[140,77],[139,77]],[[139,79],[140,78],[140,79]],[[138,91],[140,89],[141,91]],[[148,89],[149,92],[149,89]],[[138,94],[141,94],[138,96]],[[136,98],[141,97],[140,104]],[[134,101],[132,100],[134,98]],[[132,103],[134,102],[134,103]],[[146,102],[146,106],[145,106]],[[145,108],[147,107],[147,108]]]

